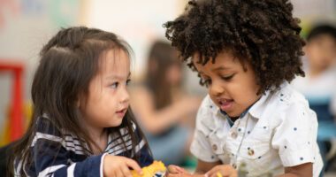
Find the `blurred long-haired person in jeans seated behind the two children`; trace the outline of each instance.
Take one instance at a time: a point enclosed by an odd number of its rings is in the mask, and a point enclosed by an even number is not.
[[[168,42],[154,42],[149,50],[147,74],[131,91],[132,106],[149,141],[153,157],[164,164],[181,164],[192,138],[201,99],[182,89],[183,68]]]

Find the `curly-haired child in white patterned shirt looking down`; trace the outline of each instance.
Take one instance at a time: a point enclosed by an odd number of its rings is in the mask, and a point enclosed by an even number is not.
[[[317,116],[290,87],[301,28],[287,0],[193,0],[166,36],[209,89],[191,152],[207,176],[318,176]],[[190,58],[190,60],[189,60]],[[177,166],[171,175],[191,175]]]

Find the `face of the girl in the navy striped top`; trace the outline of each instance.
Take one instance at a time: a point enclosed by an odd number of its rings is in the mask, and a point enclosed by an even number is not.
[[[100,59],[80,112],[90,127],[118,127],[129,106],[130,61],[123,50],[109,50]]]

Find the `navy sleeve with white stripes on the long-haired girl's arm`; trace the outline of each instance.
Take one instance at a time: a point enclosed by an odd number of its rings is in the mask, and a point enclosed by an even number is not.
[[[103,158],[105,154],[71,163],[68,156],[70,156],[72,152],[61,146],[60,142],[45,139],[37,140],[32,150],[34,171],[37,176],[103,177]]]

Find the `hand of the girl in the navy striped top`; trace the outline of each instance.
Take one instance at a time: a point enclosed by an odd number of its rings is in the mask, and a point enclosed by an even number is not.
[[[131,158],[111,156],[109,154],[103,158],[103,176],[105,177],[132,177],[129,168],[142,174],[141,167]]]

